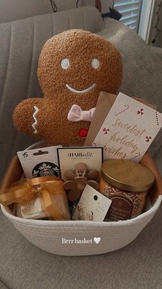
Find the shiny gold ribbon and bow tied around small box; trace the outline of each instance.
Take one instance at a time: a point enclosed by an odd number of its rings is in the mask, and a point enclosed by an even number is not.
[[[63,181],[45,181],[40,186],[34,187],[32,180],[22,179],[14,183],[11,188],[1,190],[0,203],[3,206],[8,206],[11,203],[24,204],[34,198],[40,199],[42,211],[49,219],[70,220]]]

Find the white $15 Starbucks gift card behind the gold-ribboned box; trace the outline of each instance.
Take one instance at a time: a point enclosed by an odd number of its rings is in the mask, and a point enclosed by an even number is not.
[[[35,177],[60,177],[57,148],[61,147],[50,146],[17,152],[25,177],[27,179]]]

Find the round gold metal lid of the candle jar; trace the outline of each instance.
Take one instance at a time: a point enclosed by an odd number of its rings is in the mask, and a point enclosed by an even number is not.
[[[148,168],[125,159],[109,159],[102,163],[102,177],[122,190],[144,192],[154,183],[154,175]]]

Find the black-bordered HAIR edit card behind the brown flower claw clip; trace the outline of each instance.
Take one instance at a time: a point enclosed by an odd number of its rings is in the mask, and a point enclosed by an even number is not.
[[[78,163],[84,163],[88,170],[100,172],[103,161],[102,147],[76,147],[58,148],[58,166],[60,167],[61,178],[67,181],[65,172],[75,170]]]

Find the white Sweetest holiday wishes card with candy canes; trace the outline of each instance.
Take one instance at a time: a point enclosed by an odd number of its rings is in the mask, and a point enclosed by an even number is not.
[[[104,159],[139,162],[162,126],[162,114],[120,92],[93,146],[104,146]]]

